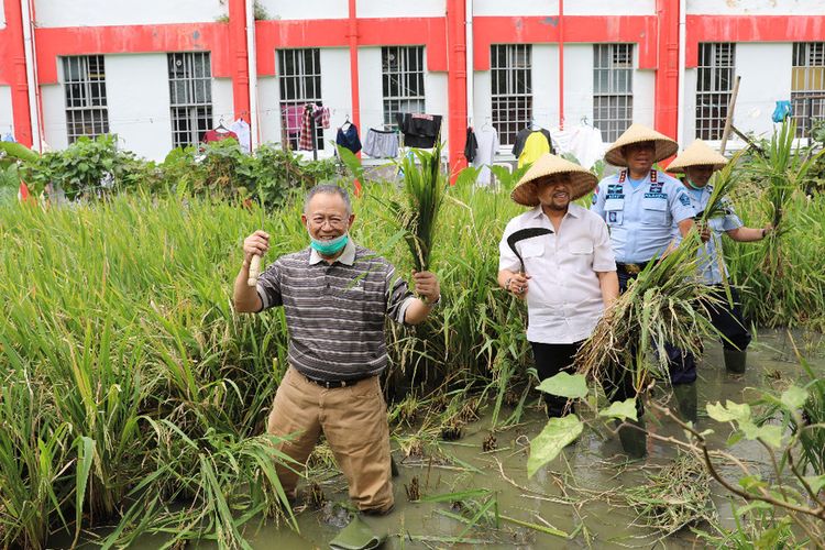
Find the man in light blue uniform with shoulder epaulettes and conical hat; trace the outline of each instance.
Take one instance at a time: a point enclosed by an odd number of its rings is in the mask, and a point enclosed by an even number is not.
[[[602,179],[593,196],[591,210],[601,216],[610,231],[610,243],[616,254],[619,290],[625,292],[648,262],[660,256],[673,241],[671,228],[682,235],[693,228],[694,210],[682,184],[653,169],[653,163],[673,155],[676,142],[650,128],[632,124],[605,153],[605,161],[622,169]],[[610,376],[607,389],[613,398],[623,400],[636,396],[632,380],[623,365]],[[672,373],[673,384],[680,374]],[[638,402],[637,402],[638,403]],[[644,457],[646,435],[641,420],[638,428],[623,426],[619,438],[625,451],[635,458]]]

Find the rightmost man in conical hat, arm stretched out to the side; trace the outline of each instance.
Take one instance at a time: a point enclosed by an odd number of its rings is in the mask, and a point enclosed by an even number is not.
[[[707,185],[711,176],[715,170],[722,169],[727,164],[719,153],[712,150],[702,140],[696,140],[693,144],[684,150],[673,163],[668,166],[671,173],[683,173],[683,186],[688,197],[693,205],[694,210],[700,213],[705,210],[707,201],[713,193],[713,186]],[[761,241],[773,229],[768,224],[763,228],[746,228],[736,216],[733,205],[725,201],[724,210],[719,216],[714,216],[707,221],[710,239],[700,249],[702,261],[702,277],[704,282],[713,286],[721,304],[711,308],[711,321],[714,327],[722,332],[722,339],[725,367],[730,373],[741,374],[745,372],[746,348],[750,343],[750,333],[745,328],[739,306],[739,295],[736,288],[730,287],[733,305],[728,302],[727,294],[723,288],[723,280],[727,278],[727,267],[725,267],[722,251],[722,233],[727,234],[737,242]],[[674,237],[679,238],[675,228]],[[672,356],[673,361],[681,361],[680,372],[692,374],[696,378],[696,365],[693,355],[679,353]],[[693,392],[693,410],[691,420],[695,421],[695,386]],[[690,404],[688,404],[690,409]]]

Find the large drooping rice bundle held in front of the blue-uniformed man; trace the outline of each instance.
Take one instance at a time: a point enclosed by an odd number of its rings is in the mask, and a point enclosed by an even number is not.
[[[698,354],[703,338],[718,336],[707,310],[718,298],[696,273],[700,245],[693,231],[675,250],[648,263],[582,345],[575,358],[579,373],[598,383],[624,365],[641,391],[651,377],[669,381],[666,343]],[[647,361],[651,348],[654,362]]]

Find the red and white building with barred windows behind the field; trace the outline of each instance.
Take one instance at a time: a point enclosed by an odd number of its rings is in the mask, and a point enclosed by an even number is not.
[[[0,59],[0,135],[35,148],[112,132],[161,160],[239,117],[280,142],[284,108],[317,102],[321,155],[348,118],[363,140],[427,112],[460,166],[484,122],[503,157],[531,121],[717,140],[735,76],[743,132],[770,132],[777,100],[807,123],[825,0],[1,0]]]

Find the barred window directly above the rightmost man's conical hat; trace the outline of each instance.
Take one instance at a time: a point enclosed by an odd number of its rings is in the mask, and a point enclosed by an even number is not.
[[[700,44],[696,70],[696,138],[721,140],[734,87],[736,48],[732,43]]]

